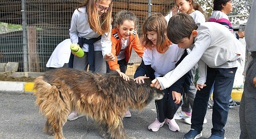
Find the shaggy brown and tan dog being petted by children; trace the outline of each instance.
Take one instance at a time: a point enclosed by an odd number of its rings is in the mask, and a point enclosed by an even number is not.
[[[64,139],[62,127],[71,110],[99,123],[104,138],[127,139],[123,115],[128,108],[142,110],[151,100],[162,99],[151,81],[125,81],[117,72],[107,74],[58,68],[36,78],[36,104],[47,121],[43,131]]]

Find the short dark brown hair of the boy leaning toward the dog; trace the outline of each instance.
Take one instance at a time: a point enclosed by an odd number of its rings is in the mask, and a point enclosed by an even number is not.
[[[183,38],[190,38],[197,26],[194,19],[185,13],[178,13],[170,18],[167,26],[167,37],[174,44],[178,44]]]

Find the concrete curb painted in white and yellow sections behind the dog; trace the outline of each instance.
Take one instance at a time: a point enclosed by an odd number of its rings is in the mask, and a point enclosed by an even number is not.
[[[0,92],[34,93],[34,82],[0,81]],[[243,89],[232,89],[231,98],[241,100]],[[212,95],[211,95],[212,98]]]

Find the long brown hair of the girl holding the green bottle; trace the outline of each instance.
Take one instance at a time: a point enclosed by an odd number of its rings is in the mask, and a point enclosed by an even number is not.
[[[95,3],[98,3],[99,1],[103,1],[103,0],[85,0],[78,6],[78,8],[81,8],[84,6],[86,7],[90,28],[93,31],[99,33],[100,35],[103,35],[104,33],[109,33],[111,29],[111,13],[112,13],[113,1],[110,0],[111,3],[109,5],[109,11],[101,15],[101,17],[98,16],[98,8],[95,5]]]

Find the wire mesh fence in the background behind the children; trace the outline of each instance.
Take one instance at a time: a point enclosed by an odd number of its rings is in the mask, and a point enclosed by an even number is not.
[[[78,0],[0,0],[0,63],[18,62],[18,71],[45,72],[54,48],[69,38],[70,21]],[[151,13],[169,14],[174,0],[114,0],[112,16],[132,11],[143,21]],[[129,63],[140,63],[132,53]],[[127,72],[134,72],[128,67]],[[131,75],[133,73],[130,73]]]

